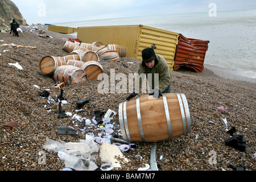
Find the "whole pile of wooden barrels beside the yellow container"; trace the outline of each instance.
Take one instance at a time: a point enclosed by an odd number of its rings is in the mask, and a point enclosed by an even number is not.
[[[39,67],[44,75],[65,85],[97,79],[104,72],[99,61],[119,61],[120,57],[126,55],[124,47],[117,44],[104,46],[101,42],[88,44],[65,41],[62,49],[69,54],[43,57]]]

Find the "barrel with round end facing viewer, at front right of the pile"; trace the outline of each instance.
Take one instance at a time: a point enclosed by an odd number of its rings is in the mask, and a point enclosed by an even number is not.
[[[87,73],[88,80],[97,79],[98,76],[103,73],[103,67],[96,61],[88,61],[81,67]]]

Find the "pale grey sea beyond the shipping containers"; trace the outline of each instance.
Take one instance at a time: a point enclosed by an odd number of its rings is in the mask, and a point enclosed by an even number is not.
[[[55,23],[56,26],[75,28],[133,24],[209,40],[205,68],[221,77],[256,82],[256,9]]]

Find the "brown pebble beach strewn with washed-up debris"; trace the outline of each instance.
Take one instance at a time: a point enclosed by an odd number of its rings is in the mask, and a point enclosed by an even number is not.
[[[19,33],[19,37],[10,35],[10,32],[0,33],[0,46],[13,43],[36,47],[0,47],[0,126],[16,123],[13,129],[0,127],[0,171],[61,171],[65,164],[57,152],[43,148],[46,139],[77,142],[85,139],[86,133],[97,135],[99,131],[97,126],[81,131],[78,127],[81,124],[72,122],[71,117],[58,118],[56,111],[59,111],[59,104],[48,104],[47,98],[39,97],[39,92],[46,89],[52,98],[60,95],[60,90],[54,88],[56,82],[53,78],[40,71],[40,60],[45,56],[67,56],[68,53],[62,49],[63,44],[68,38],[75,37],[48,31],[47,26],[38,27],[46,31],[44,38],[36,31],[32,32],[31,27],[22,27],[23,33]],[[19,63],[23,69],[9,63]],[[115,69],[115,74],[128,75],[137,72],[139,60],[121,57],[119,62],[99,63],[107,75],[110,75],[110,69]],[[119,104],[126,101],[129,93],[100,94],[97,90],[100,82],[91,80],[65,86],[63,97],[67,104],[63,105],[63,110],[76,114],[76,101],[90,99],[78,114],[92,119],[94,111],[111,109],[117,112],[111,122],[116,126],[114,134],[118,134]],[[136,147],[133,150],[122,153],[128,162],[121,161],[121,167],[112,171],[144,168],[150,164],[151,147],[154,145],[159,171],[234,171],[230,166],[255,171],[255,82],[222,78],[207,68],[203,73],[183,68],[172,72],[171,87],[172,93],[183,93],[187,97],[192,132],[163,142],[134,142]],[[51,111],[46,109],[46,105]],[[225,110],[218,109],[221,106]],[[231,136],[222,123],[223,118],[227,121],[228,130],[235,127],[236,134],[246,137],[245,151],[225,144],[225,139]],[[60,135],[57,126],[71,126],[76,135]],[[42,151],[46,154],[46,162],[39,164]],[[98,157],[94,161],[97,170],[104,164],[99,152],[96,152]]]

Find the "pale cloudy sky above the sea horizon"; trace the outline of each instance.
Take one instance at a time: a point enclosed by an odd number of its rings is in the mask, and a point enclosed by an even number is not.
[[[28,24],[255,9],[255,0],[11,0]],[[214,6],[213,6],[214,5]]]

